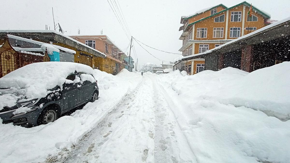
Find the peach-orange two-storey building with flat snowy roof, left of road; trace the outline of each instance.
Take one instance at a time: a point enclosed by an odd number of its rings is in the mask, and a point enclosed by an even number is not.
[[[122,52],[108,36],[79,34],[68,36],[107,55],[105,58],[93,58],[93,68],[97,68],[107,73],[117,74],[126,65],[126,63],[121,60],[121,55],[124,54],[124,52]]]

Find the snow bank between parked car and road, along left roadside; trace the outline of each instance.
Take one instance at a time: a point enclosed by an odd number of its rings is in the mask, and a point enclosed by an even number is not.
[[[66,67],[61,68],[67,73],[70,71]],[[81,67],[75,66],[75,69],[79,68]],[[84,108],[75,111],[70,116],[63,116],[55,122],[32,128],[2,124],[2,119],[0,119],[0,162],[54,162],[63,150],[70,149],[111,112],[126,93],[134,89],[142,79],[141,75],[126,71],[130,80],[125,75],[113,76],[97,69],[84,68],[83,70],[93,71],[94,77],[98,80],[99,99],[93,103],[89,102]],[[32,74],[35,73],[32,72]],[[38,77],[41,78],[41,76]],[[24,77],[21,79],[24,80]],[[53,82],[50,79],[37,80]]]

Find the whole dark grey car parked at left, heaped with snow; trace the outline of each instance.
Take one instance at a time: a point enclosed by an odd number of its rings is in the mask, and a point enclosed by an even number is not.
[[[54,122],[62,114],[98,99],[90,66],[40,62],[0,78],[0,118],[25,127]]]

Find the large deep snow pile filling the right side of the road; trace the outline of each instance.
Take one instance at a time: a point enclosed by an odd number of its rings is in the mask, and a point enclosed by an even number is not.
[[[289,162],[290,62],[158,78],[197,162]]]

